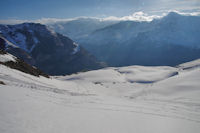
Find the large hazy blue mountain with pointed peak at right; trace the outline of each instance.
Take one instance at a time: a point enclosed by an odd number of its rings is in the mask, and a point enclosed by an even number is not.
[[[121,21],[79,43],[110,66],[178,65],[200,57],[200,17],[170,12],[151,22]]]

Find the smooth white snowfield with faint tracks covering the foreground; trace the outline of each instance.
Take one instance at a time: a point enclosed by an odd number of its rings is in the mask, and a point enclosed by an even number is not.
[[[199,64],[49,79],[0,65],[0,132],[199,133]]]

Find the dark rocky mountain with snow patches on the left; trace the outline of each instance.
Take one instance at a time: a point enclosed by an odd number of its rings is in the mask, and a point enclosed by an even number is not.
[[[2,49],[48,74],[71,74],[102,67],[84,48],[45,25],[0,25],[0,31]]]

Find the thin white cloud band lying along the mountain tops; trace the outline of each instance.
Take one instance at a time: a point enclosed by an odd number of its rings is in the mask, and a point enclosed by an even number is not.
[[[0,24],[20,24],[24,22],[34,22],[34,23],[41,23],[41,24],[54,24],[57,22],[68,22],[72,20],[77,19],[96,19],[99,21],[152,21],[153,19],[160,19],[164,16],[166,16],[169,12],[176,12],[180,15],[185,16],[200,16],[200,12],[180,12],[177,10],[163,10],[161,15],[149,15],[147,13],[144,13],[142,11],[135,12],[132,15],[123,16],[123,17],[116,17],[116,16],[109,16],[109,17],[103,17],[103,18],[97,18],[97,17],[76,17],[76,18],[70,18],[70,19],[57,19],[57,18],[41,18],[37,20],[18,20],[18,19],[8,19],[8,20],[0,20]],[[152,13],[156,13],[156,11],[152,11]]]

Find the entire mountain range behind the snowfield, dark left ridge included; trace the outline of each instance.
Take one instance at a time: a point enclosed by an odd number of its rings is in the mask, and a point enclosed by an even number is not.
[[[199,25],[199,16],[176,12],[151,22],[79,18],[48,26],[0,25],[0,49],[50,75],[105,67],[101,62],[175,66],[200,58]]]

